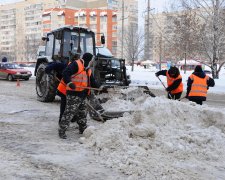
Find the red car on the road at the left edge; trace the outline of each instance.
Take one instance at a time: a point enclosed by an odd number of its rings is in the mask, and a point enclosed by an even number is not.
[[[20,67],[18,64],[3,62],[0,63],[0,78],[13,81],[14,79],[24,79],[26,81],[32,76],[31,71]]]

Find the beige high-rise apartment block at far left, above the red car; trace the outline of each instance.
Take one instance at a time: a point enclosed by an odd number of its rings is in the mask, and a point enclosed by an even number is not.
[[[43,9],[59,5],[57,0],[26,0],[0,6],[0,58],[34,61],[42,35]]]

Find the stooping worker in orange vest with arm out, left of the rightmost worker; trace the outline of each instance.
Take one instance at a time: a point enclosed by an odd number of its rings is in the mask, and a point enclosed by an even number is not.
[[[183,83],[180,71],[177,67],[171,66],[169,70],[162,70],[155,73],[158,77],[160,75],[167,77],[167,88],[169,99],[180,99],[183,92]]]

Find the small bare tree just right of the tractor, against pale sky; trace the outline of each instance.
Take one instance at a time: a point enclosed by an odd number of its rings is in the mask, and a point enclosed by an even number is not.
[[[136,24],[130,24],[124,33],[125,58],[131,60],[132,71],[134,70],[134,60],[144,51],[144,34],[138,31]]]

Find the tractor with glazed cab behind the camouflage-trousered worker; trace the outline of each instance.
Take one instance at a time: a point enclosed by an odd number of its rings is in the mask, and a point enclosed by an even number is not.
[[[82,55],[85,52],[95,56],[93,73],[101,85],[129,85],[125,60],[101,53],[101,48],[104,46],[96,47],[93,31],[77,26],[67,26],[49,32],[42,40],[45,41],[45,52],[44,55],[38,56],[35,67],[36,93],[39,101],[54,101],[59,84],[57,76],[45,72],[46,66],[51,62],[68,63],[72,55]],[[101,43],[105,44],[104,35],[101,36]]]

